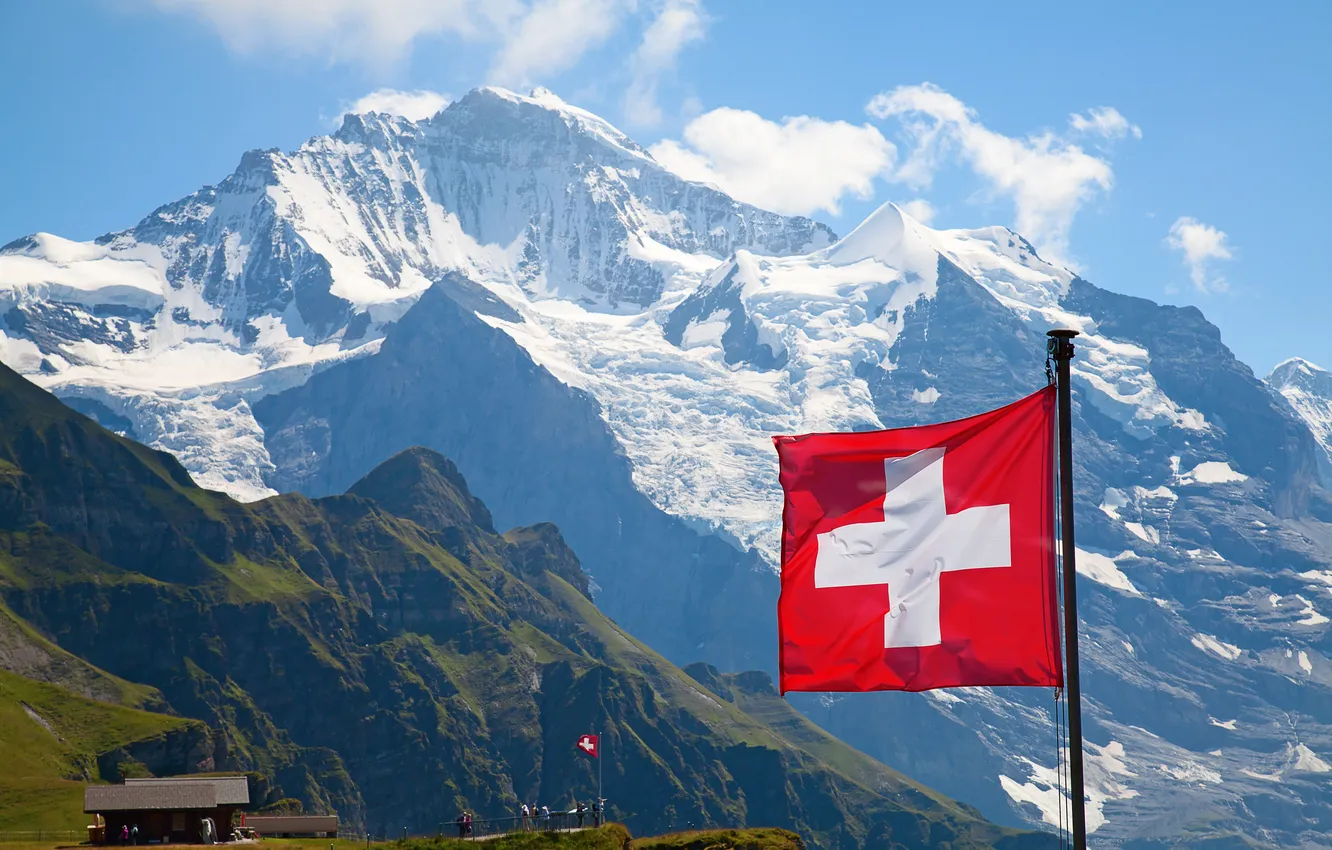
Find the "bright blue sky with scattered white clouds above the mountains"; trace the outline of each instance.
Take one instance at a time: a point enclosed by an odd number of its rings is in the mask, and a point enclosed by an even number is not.
[[[1023,224],[1260,374],[1332,366],[1332,4],[932,5],[9,0],[0,242],[128,226],[370,92],[539,84],[745,200]]]

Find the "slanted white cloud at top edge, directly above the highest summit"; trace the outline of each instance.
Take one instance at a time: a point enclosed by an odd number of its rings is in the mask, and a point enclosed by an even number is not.
[[[490,65],[501,85],[529,85],[573,68],[619,28],[633,0],[537,0],[515,19]]]

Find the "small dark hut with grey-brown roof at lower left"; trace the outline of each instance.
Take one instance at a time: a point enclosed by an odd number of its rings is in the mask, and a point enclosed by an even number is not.
[[[232,815],[249,805],[245,777],[161,777],[125,779],[124,785],[89,785],[84,811],[101,815],[105,842],[120,843],[124,829],[139,827],[139,843],[200,843],[204,818],[217,838],[232,833]]]

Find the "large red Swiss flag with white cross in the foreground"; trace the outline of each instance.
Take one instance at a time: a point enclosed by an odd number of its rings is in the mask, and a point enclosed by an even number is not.
[[[774,437],[782,693],[1063,685],[1055,388],[955,422]]]

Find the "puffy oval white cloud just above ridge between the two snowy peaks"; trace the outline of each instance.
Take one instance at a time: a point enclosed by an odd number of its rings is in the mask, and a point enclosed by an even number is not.
[[[685,127],[683,143],[650,148],[666,168],[711,183],[733,197],[787,214],[823,209],[838,214],[842,197],[874,195],[874,179],[892,167],[896,149],[876,128],[809,116],[769,121],[721,108]]]

